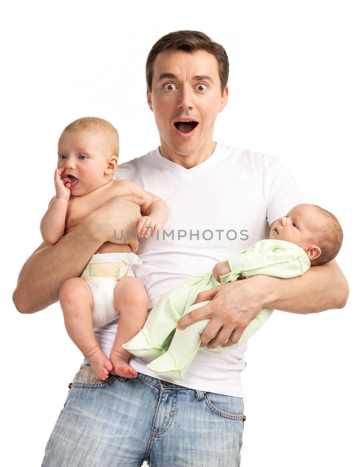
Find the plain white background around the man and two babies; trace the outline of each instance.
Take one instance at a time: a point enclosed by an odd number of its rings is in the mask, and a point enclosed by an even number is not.
[[[344,230],[337,259],[351,289],[346,308],[276,311],[249,342],[241,467],[357,463],[356,3],[32,1],[2,10],[3,465],[40,466],[82,362],[58,303],[22,315],[11,300],[23,262],[41,243],[58,136],[92,115],[118,128],[121,162],[154,149],[145,61],[160,36],[179,29],[205,32],[229,56],[229,102],[215,141],[280,158],[305,198]]]

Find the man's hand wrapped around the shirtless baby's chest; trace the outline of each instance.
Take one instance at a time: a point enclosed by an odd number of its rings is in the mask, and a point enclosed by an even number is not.
[[[81,222],[103,242],[129,244],[136,253],[140,237],[136,231],[143,202],[143,199],[133,195],[116,196],[108,199]]]

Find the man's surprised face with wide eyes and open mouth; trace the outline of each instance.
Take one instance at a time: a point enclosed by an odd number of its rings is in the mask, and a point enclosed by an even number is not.
[[[221,93],[219,66],[212,54],[205,50],[158,54],[148,105],[162,152],[188,156],[212,143],[215,120],[226,106],[227,94],[227,87]]]

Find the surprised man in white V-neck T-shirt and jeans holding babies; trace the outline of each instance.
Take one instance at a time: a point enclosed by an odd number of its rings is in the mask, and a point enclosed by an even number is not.
[[[151,49],[146,78],[161,145],[120,165],[118,178],[141,184],[170,208],[158,240],[141,241],[137,252],[144,265],[134,271],[151,308],[177,283],[267,238],[269,225],[304,200],[274,157],[213,141],[217,114],[228,98],[222,46],[200,32],[170,33]],[[140,218],[136,203],[141,200],[113,198],[56,245],[43,242],[21,269],[13,296],[17,309],[33,313],[56,302],[61,284],[78,276],[103,242],[129,242],[136,249],[131,235],[120,241],[113,235],[115,228],[134,232]],[[66,270],[56,268],[64,257]],[[56,277],[50,272],[54,266]],[[202,346],[228,347],[264,306],[305,314],[342,308],[347,296],[346,279],[332,261],[293,279],[254,276],[219,285],[199,294],[197,303],[212,301],[181,318],[178,327],[210,318]],[[105,353],[116,324],[97,329]],[[198,353],[181,386],[159,380],[146,367],[149,359],[131,359],[137,378],[113,375],[105,382],[85,361],[43,466],[140,466],[143,460],[154,467],[239,466],[245,418],[239,371],[245,368],[247,345],[216,353],[207,349]]]

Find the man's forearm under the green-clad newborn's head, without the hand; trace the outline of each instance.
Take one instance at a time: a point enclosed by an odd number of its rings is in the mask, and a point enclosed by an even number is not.
[[[335,260],[311,267],[303,276],[291,279],[267,276],[265,281],[263,306],[290,313],[343,308],[349,295],[348,283]]]

